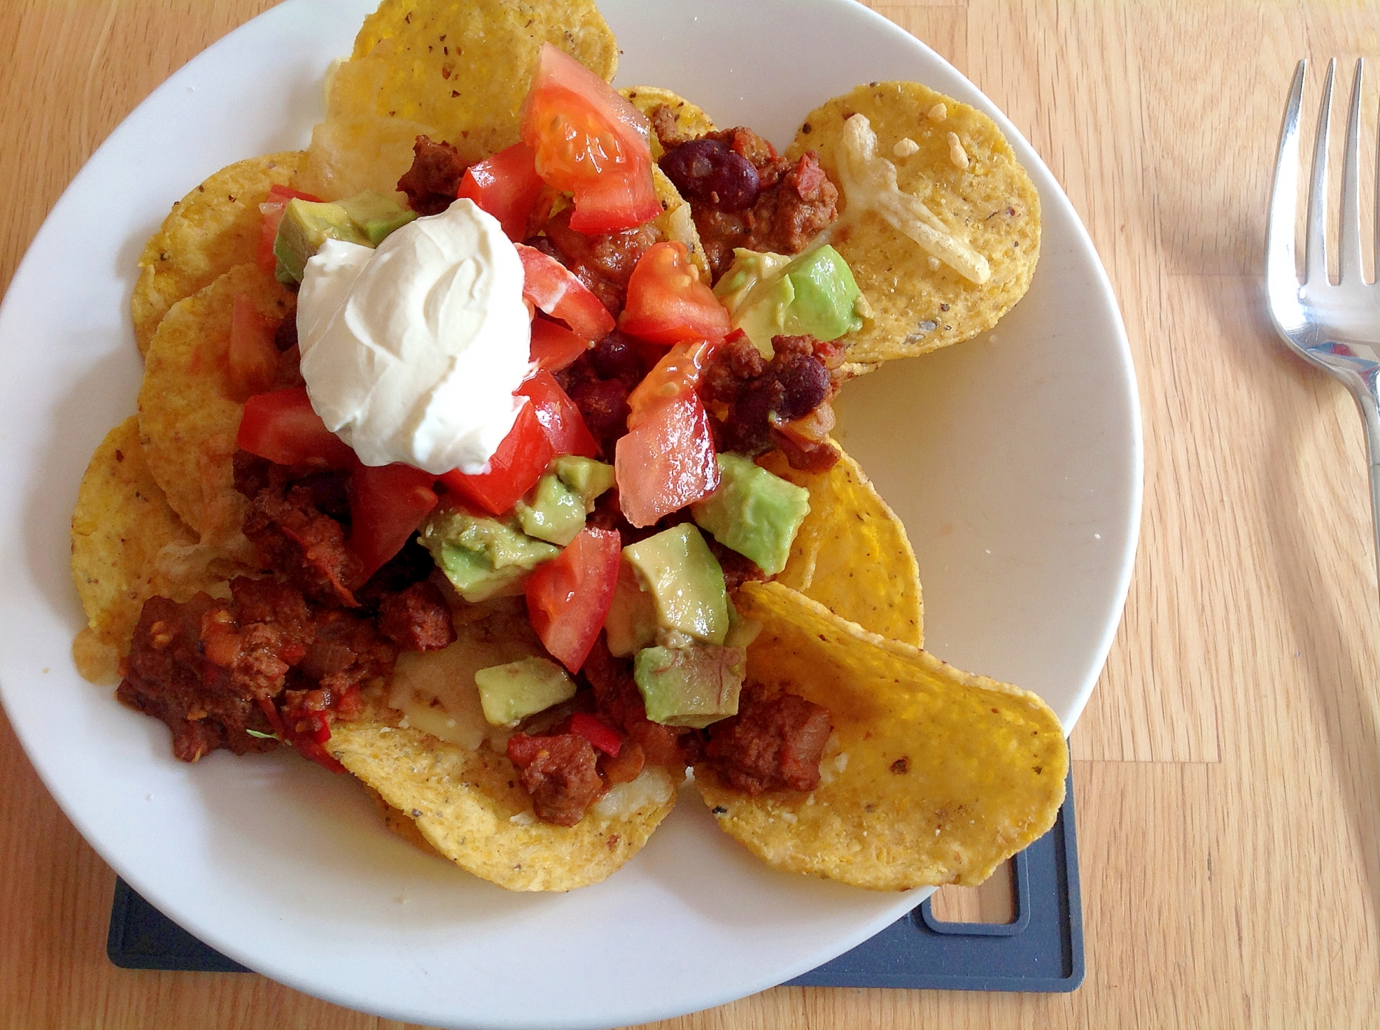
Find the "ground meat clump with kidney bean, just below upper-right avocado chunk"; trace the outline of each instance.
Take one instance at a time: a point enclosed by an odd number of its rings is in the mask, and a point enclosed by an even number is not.
[[[778,447],[792,468],[827,471],[838,461],[828,432],[842,348],[811,336],[773,337],[771,347],[769,362],[737,336],[709,356],[700,396],[711,411],[715,445],[749,457]]]

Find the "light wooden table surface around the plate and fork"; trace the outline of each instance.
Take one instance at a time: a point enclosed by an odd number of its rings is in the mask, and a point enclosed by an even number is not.
[[[268,6],[0,4],[0,287],[130,109]],[[778,987],[656,1026],[1373,1024],[1380,606],[1365,445],[1341,387],[1274,338],[1260,268],[1294,61],[1314,58],[1311,126],[1319,62],[1380,70],[1380,14],[1341,0],[875,7],[977,83],[1064,185],[1140,378],[1136,576],[1072,736],[1087,979],[1052,995]],[[1374,84],[1365,109],[1374,139]],[[113,968],[115,874],[3,717],[0,783],[0,1027],[400,1026],[257,975]]]

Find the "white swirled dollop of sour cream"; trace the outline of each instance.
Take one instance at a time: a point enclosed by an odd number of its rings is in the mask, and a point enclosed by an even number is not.
[[[377,250],[327,240],[297,298],[312,407],[366,465],[486,471],[524,403],[522,287],[516,247],[471,200]]]

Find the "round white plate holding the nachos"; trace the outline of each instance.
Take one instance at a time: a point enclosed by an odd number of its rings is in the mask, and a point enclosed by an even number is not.
[[[374,0],[293,0],[145,101],[54,207],[0,311],[0,690],[58,804],[139,893],[310,994],[436,1026],[595,1027],[795,976],[916,904],[773,873],[687,797],[611,880],[511,895],[389,835],[348,779],[291,755],[178,764],[167,730],[83,682],[68,518],[134,410],[135,260],[168,204],[240,157],[305,145],[319,81]],[[668,86],[777,144],[860,81],[988,110],[1043,200],[1029,295],[984,338],[849,384],[846,442],[905,519],[931,650],[1042,693],[1071,728],[1130,574],[1141,450],[1105,275],[1058,185],[967,80],[849,0],[607,0],[618,81]],[[1094,859],[1096,860],[1096,859]]]

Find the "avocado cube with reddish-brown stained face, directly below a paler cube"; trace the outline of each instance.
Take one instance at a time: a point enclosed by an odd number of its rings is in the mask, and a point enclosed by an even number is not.
[[[644,648],[632,663],[647,718],[667,726],[696,729],[738,712],[747,670],[747,649],[713,643]]]

